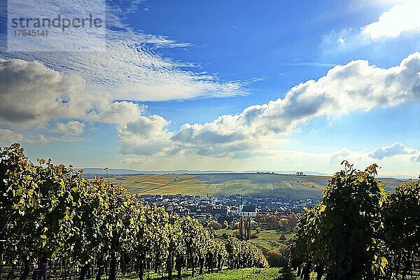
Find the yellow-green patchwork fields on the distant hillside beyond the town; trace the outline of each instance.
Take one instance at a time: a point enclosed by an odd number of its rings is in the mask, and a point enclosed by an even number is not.
[[[153,195],[251,195],[304,199],[321,197],[327,176],[296,176],[288,174],[136,174],[109,179],[121,183],[131,193]],[[384,179],[386,190],[402,183]]]

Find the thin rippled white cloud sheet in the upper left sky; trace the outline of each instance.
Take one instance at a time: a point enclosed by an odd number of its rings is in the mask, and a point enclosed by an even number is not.
[[[39,9],[38,14],[42,14],[42,10],[57,9],[56,3],[44,2],[48,6],[32,8]],[[137,9],[139,2],[123,2],[107,3],[105,52],[6,52],[7,41],[3,38],[0,40],[0,55],[8,59],[38,60],[64,75],[78,73],[88,85],[94,86],[95,91],[111,94],[112,100],[162,101],[247,93],[244,90],[246,82],[221,80],[214,74],[202,72],[199,65],[159,55],[156,52],[159,48],[186,48],[190,45],[127,27],[122,19]],[[73,6],[76,14],[89,14],[86,10],[92,10],[92,3],[83,6],[78,1]],[[104,39],[92,36],[94,34],[86,34],[79,41]]]

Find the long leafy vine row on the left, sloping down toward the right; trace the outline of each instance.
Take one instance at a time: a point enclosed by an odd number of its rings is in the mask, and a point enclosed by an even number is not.
[[[120,185],[0,150],[1,279],[106,279],[151,273],[172,279],[223,267],[267,267],[260,249],[217,239],[189,216],[146,207]]]

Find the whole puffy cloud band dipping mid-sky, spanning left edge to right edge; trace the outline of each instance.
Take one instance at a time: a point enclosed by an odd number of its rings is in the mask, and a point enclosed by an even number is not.
[[[115,123],[120,151],[127,155],[244,158],[278,147],[288,133],[319,116],[418,102],[419,71],[419,52],[389,69],[357,60],[296,85],[283,99],[171,132],[169,120],[144,116],[145,107],[134,102],[113,102],[109,94],[90,92],[80,76],[64,76],[40,62],[0,59],[0,123],[43,127],[66,119],[56,130],[75,135],[83,133],[80,121]],[[26,140],[45,143],[48,138]]]

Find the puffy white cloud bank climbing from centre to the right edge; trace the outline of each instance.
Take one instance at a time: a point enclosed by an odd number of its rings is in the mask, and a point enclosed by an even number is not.
[[[169,153],[196,153],[214,157],[232,156],[253,148],[267,147],[301,125],[320,116],[398,106],[420,100],[420,53],[409,55],[398,66],[382,69],[365,60],[335,66],[318,80],[296,85],[286,96],[267,104],[249,106],[236,115],[223,115],[210,123],[184,124],[177,132],[164,129],[166,122],[153,122],[160,144]],[[146,117],[145,117],[146,118]],[[153,117],[155,118],[155,117]],[[141,154],[134,141],[137,130],[127,125],[120,131],[123,153]],[[169,141],[170,140],[170,141]],[[144,141],[144,140],[142,140]],[[160,148],[159,151],[164,151]]]

